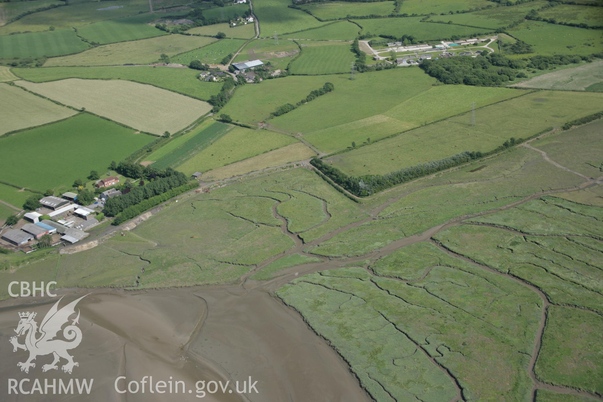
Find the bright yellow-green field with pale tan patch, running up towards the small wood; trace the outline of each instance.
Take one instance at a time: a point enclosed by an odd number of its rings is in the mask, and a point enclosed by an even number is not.
[[[520,95],[519,91],[502,88],[472,86],[437,86],[400,102],[380,115],[335,125],[306,133],[304,138],[325,153],[339,151],[365,142],[368,137],[378,140],[400,131],[431,123],[439,119],[468,111],[471,105],[459,99],[472,99],[484,106]]]

